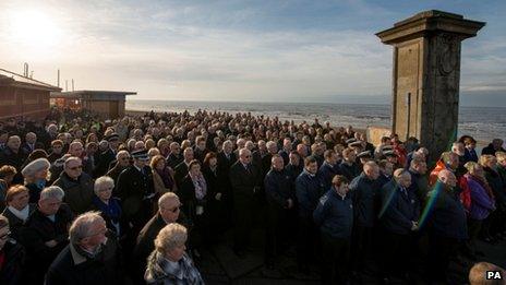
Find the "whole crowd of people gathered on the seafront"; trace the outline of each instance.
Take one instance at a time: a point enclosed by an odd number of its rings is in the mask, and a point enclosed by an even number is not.
[[[450,264],[469,272],[478,239],[506,238],[506,151],[475,145],[430,154],[415,138],[373,145],[352,127],[248,112],[9,119],[0,284],[204,284],[202,252],[228,242],[244,259],[257,229],[268,270],[293,256],[323,284],[455,284]]]

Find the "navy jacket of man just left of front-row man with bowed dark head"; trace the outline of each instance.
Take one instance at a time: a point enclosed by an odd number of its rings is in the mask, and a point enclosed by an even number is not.
[[[323,186],[317,175],[311,176],[305,169],[296,179],[296,194],[299,202],[299,215],[312,217],[318,199],[323,194]]]

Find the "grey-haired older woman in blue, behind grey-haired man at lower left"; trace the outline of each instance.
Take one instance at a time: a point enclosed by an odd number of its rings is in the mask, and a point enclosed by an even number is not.
[[[121,230],[121,204],[118,198],[112,197],[115,180],[108,176],[101,176],[95,180],[95,197],[93,198],[93,209],[100,212],[106,221],[107,228],[119,238]]]

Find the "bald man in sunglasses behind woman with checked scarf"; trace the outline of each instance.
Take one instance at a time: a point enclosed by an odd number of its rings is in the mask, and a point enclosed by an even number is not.
[[[144,271],[146,270],[146,259],[155,249],[155,239],[158,233],[168,224],[178,223],[190,228],[189,221],[180,211],[181,202],[179,197],[172,192],[167,192],[158,199],[158,212],[146,223],[137,236],[137,242],[134,249],[134,259],[136,264],[134,281],[144,281]]]

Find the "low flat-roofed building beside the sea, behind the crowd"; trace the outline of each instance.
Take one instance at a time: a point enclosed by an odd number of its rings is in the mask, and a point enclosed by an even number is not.
[[[51,93],[51,103],[57,107],[71,109],[87,109],[105,119],[116,119],[124,116],[126,95],[136,92],[121,91],[73,91]]]

